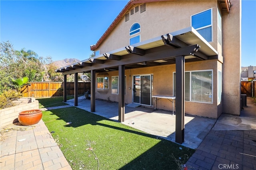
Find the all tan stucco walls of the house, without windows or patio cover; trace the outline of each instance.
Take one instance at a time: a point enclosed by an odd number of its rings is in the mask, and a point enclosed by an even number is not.
[[[96,50],[100,54],[129,45],[129,30],[132,24],[138,22],[141,32],[141,42],[174,32],[190,26],[190,16],[212,8],[213,42],[218,51],[218,60],[198,61],[185,64],[186,71],[213,70],[213,103],[185,102],[185,113],[205,117],[218,118],[221,113],[240,114],[240,67],[241,67],[241,1],[232,0],[230,14],[222,11],[222,45],[218,43],[218,1],[169,1],[146,4],[146,12],[134,13],[128,22],[124,18],[112,30],[112,33]],[[135,6],[134,6],[135,7]],[[96,51],[95,50],[95,51]],[[218,70],[222,71],[222,101],[218,103]],[[153,74],[154,95],[173,95],[173,72],[175,64],[125,70],[126,95],[125,103],[132,103],[132,75]],[[109,90],[97,90],[96,98],[118,102],[118,95],[111,94],[111,76],[118,71],[109,71]],[[232,76],[230,76],[232,75]],[[130,87],[130,89],[129,89]],[[158,108],[172,110],[167,100],[158,103]]]

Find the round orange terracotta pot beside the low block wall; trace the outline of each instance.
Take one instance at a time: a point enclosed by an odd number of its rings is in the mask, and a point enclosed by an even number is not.
[[[42,111],[39,109],[22,111],[19,113],[18,121],[22,125],[34,125],[42,118]]]

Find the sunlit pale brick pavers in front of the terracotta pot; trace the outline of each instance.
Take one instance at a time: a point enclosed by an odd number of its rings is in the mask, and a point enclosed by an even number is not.
[[[42,120],[27,130],[4,135],[0,142],[1,170],[72,170]]]

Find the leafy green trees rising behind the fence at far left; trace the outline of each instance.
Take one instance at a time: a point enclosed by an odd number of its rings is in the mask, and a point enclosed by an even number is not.
[[[7,76],[13,79],[20,79],[28,77],[29,81],[42,81],[46,73],[44,64],[46,64],[51,57],[38,57],[35,51],[14,50],[13,45],[7,41],[0,43],[0,67],[2,73],[0,76]],[[0,77],[2,78],[2,77]],[[8,84],[1,82],[1,85]]]

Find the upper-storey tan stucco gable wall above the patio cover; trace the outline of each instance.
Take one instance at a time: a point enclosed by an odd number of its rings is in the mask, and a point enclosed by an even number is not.
[[[200,3],[200,8],[198,4]],[[167,33],[190,27],[190,17],[212,8],[213,42],[210,44],[217,49],[217,1],[165,1],[146,3],[146,11],[136,12],[125,22],[125,17],[116,25],[105,41],[95,49],[100,54],[129,45],[129,39],[140,35],[140,41],[155,38]],[[135,6],[134,6],[135,7]],[[129,11],[130,12],[130,11]],[[129,36],[130,27],[138,22],[141,32]]]

